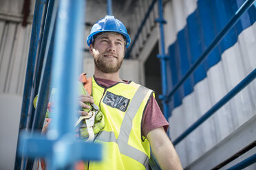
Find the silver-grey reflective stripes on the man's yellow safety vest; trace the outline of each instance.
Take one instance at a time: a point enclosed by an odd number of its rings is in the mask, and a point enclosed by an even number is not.
[[[117,143],[121,154],[124,154],[126,156],[129,156],[130,158],[133,158],[134,160],[137,160],[142,165],[144,165],[144,167],[147,166],[147,163],[149,162],[149,157],[142,151],[132,147],[131,145],[128,145],[128,140],[132,128],[132,121],[148,92],[149,89],[145,88],[144,86],[140,86],[136,91],[133,99],[131,99],[129,107],[127,108],[125,117],[122,120],[122,125],[120,127],[118,139],[116,139],[114,132],[107,131],[100,132],[100,134],[97,137],[97,140],[99,141]]]

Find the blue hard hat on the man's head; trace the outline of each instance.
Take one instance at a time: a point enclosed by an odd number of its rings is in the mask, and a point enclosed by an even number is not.
[[[91,45],[94,40],[94,35],[100,32],[118,32],[125,36],[125,47],[127,48],[130,45],[131,38],[129,34],[127,34],[125,25],[123,25],[123,23],[118,19],[115,19],[114,16],[107,15],[92,26],[91,33],[87,36],[87,45]]]

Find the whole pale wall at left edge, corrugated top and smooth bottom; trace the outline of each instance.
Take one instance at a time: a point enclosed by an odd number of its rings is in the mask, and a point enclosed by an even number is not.
[[[14,169],[34,0],[22,27],[23,1],[0,1],[0,169]]]

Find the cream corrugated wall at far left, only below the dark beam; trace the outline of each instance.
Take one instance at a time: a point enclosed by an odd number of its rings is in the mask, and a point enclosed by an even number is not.
[[[0,93],[22,95],[31,25],[0,21]]]

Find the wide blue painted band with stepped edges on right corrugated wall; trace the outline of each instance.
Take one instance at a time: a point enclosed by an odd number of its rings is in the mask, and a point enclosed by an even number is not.
[[[169,84],[175,86],[178,83],[243,3],[244,0],[198,0],[198,8],[187,17],[184,29],[177,33],[177,40],[169,46]],[[220,62],[222,53],[235,45],[239,34],[255,21],[256,5],[252,5],[206,60],[198,66],[192,77],[189,77],[182,88],[173,95],[171,108],[182,104],[182,99],[193,92],[193,86],[206,77],[206,72],[211,66]]]

